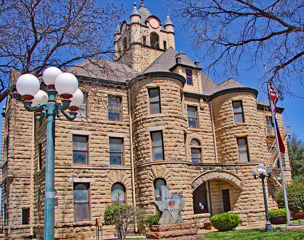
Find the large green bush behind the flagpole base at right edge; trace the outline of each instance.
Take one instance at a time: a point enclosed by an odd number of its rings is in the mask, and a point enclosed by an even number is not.
[[[304,184],[293,180],[292,183],[286,185],[286,193],[290,212],[304,211]],[[275,194],[275,200],[278,207],[285,207],[283,188]]]

